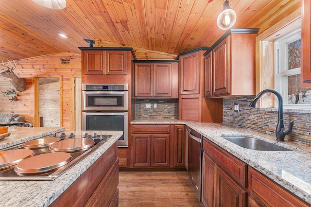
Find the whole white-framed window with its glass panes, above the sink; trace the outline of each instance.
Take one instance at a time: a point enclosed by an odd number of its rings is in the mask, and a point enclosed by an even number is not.
[[[300,28],[275,40],[275,89],[284,108],[310,108],[311,88],[300,87]]]

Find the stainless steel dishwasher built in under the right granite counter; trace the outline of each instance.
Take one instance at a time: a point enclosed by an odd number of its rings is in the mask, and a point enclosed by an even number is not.
[[[201,150],[202,136],[189,128],[188,130],[188,175],[196,195],[201,201]]]

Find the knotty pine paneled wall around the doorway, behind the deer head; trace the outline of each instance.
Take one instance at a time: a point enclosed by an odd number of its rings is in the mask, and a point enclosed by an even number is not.
[[[70,64],[61,64],[60,58],[69,58]],[[73,78],[81,77],[81,53],[61,52],[52,55],[39,56],[16,61],[14,73],[26,79],[26,90],[19,92],[17,101],[10,102],[7,97],[0,95],[0,113],[16,113],[25,117],[25,121],[35,124],[35,77],[61,77],[60,89],[62,91],[61,127],[66,130],[73,126]],[[0,77],[0,91],[11,90],[10,82]],[[39,124],[39,123],[37,123]]]

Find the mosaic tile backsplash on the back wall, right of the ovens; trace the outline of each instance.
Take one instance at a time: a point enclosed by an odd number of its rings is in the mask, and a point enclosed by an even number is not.
[[[135,119],[177,119],[177,103],[177,99],[136,99]],[[145,104],[151,104],[151,108],[145,108]]]

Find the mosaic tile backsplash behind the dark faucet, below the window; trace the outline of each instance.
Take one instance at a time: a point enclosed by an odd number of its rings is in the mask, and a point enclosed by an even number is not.
[[[278,111],[251,108],[249,104],[254,98],[255,96],[225,98],[223,101],[223,123],[275,135]],[[233,110],[235,103],[240,104],[239,112]],[[284,111],[283,120],[286,129],[289,128],[289,122],[294,121],[293,130],[290,135],[285,137],[285,140],[311,145],[310,113],[297,113],[295,110]]]

